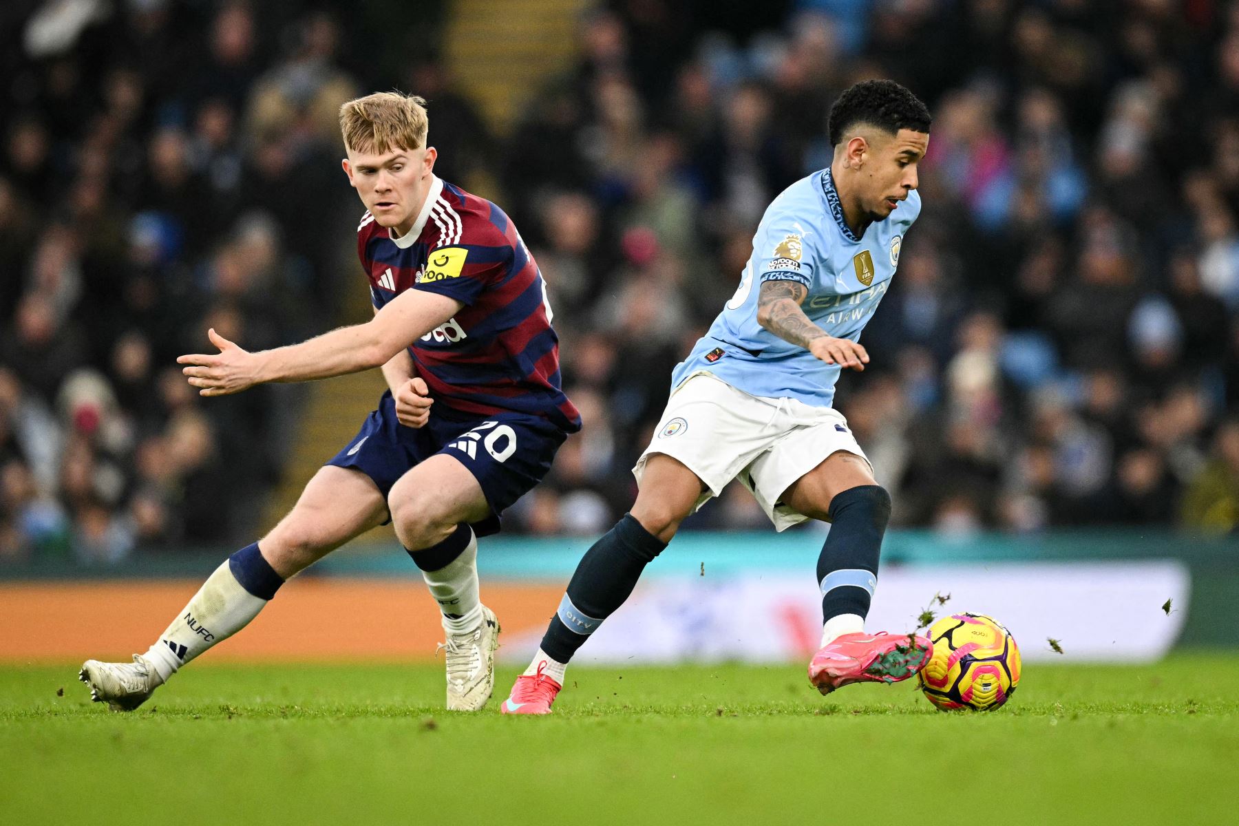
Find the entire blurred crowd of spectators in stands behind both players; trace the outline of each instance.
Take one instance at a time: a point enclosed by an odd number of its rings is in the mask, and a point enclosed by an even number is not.
[[[0,11],[0,559],[268,528],[304,390],[203,401],[175,357],[341,321],[364,282],[336,110],[393,85],[430,100],[442,177],[522,229],[585,419],[507,529],[631,504],[672,368],[867,77],[934,114],[836,394],[893,524],[1239,528],[1239,4],[618,0],[507,134],[410,47],[426,5],[399,36],[395,0]],[[686,526],[764,524],[733,484]]]

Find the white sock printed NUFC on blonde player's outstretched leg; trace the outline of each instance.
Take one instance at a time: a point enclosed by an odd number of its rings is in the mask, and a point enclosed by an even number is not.
[[[248,625],[266,602],[245,591],[224,560],[142,658],[166,682],[182,665]]]

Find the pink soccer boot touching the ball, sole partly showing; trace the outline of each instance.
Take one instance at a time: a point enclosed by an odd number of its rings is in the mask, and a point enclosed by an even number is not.
[[[924,667],[933,643],[912,634],[843,634],[813,655],[809,682],[821,693],[852,682],[900,682]]]

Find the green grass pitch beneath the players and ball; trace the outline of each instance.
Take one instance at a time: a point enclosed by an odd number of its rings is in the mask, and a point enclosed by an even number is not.
[[[1033,664],[986,715],[798,665],[574,667],[549,718],[447,713],[424,664],[208,658],[129,715],[76,676],[0,669],[0,821],[1239,824],[1234,653]]]

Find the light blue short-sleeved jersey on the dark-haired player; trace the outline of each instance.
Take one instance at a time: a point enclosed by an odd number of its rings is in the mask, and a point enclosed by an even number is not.
[[[706,370],[750,395],[829,407],[839,365],[814,358],[758,324],[760,290],[753,285],[803,284],[809,295],[800,308],[813,323],[835,338],[855,342],[886,293],[900,264],[903,234],[919,214],[921,196],[912,191],[886,220],[870,224],[856,238],[844,223],[830,167],[789,186],[766,208],[736,295],[676,365],[672,388]]]

